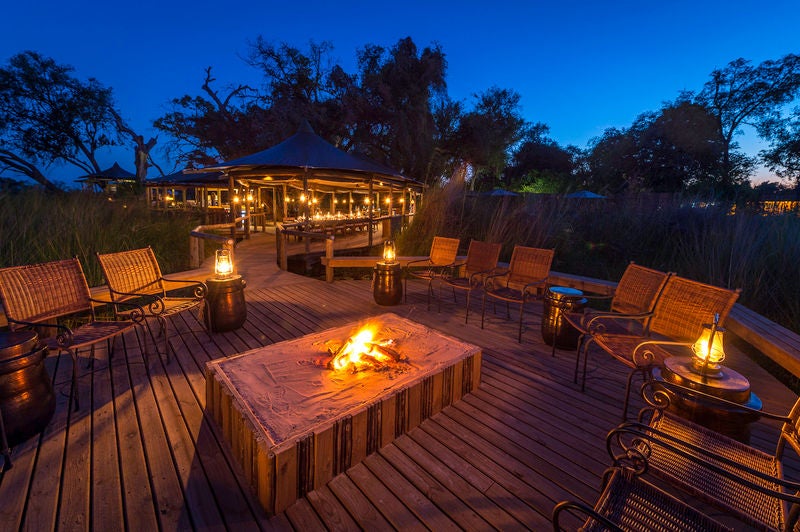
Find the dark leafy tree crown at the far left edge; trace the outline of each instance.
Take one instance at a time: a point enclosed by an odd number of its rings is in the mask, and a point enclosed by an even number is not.
[[[0,69],[0,171],[58,187],[40,167],[63,162],[87,174],[100,171],[96,154],[119,144],[111,89],[81,81],[73,68],[33,51]]]

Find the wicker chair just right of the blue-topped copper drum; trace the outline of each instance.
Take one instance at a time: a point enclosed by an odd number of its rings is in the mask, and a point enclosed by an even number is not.
[[[579,341],[577,356],[575,358],[575,376],[573,381],[578,382],[578,370],[580,368],[581,345],[589,335],[589,324],[597,329],[603,327],[606,333],[626,334],[633,332],[631,327],[638,327],[639,332],[647,330],[647,324],[653,315],[658,297],[664,288],[671,274],[651,268],[639,266],[631,262],[620,277],[614,293],[611,296],[603,295],[582,295],[580,298],[589,300],[611,300],[608,312],[601,312],[594,309],[586,309],[584,312],[569,312],[558,308],[560,318],[570,326],[577,329]],[[603,320],[604,316],[626,315],[630,320],[608,319]],[[601,321],[602,320],[602,321]],[[553,355],[556,352],[557,342],[553,342]],[[584,358],[583,373],[586,374],[586,359]],[[582,386],[586,380],[583,380]],[[585,388],[581,388],[584,391]]]

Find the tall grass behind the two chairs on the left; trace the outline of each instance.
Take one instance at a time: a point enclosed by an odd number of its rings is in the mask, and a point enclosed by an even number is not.
[[[197,219],[151,212],[136,198],[110,201],[87,192],[25,190],[0,195],[0,266],[77,256],[89,285],[102,283],[96,252],[152,246],[165,273],[188,269]]]

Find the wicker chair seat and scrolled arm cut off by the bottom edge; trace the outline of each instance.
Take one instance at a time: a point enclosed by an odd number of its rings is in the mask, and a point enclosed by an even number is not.
[[[582,526],[562,527],[564,513],[585,515]],[[574,501],[553,509],[553,530],[715,531],[731,530],[643,480],[632,469],[612,467],[603,475],[603,491],[594,508]]]

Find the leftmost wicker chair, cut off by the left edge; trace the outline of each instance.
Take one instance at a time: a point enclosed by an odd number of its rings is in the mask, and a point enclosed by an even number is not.
[[[26,327],[55,330],[55,336],[42,341],[51,351],[72,357],[70,405],[74,401],[76,410],[80,408],[78,350],[89,347],[94,356],[95,345],[105,341],[110,358],[116,337],[140,323],[144,315],[141,307],[131,304],[127,305],[127,320],[98,320],[94,305],[109,302],[92,299],[77,258],[0,269],[0,299],[12,331]],[[82,324],[68,327],[55,323],[66,317]]]

